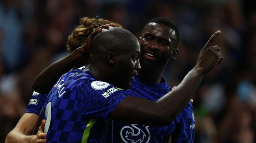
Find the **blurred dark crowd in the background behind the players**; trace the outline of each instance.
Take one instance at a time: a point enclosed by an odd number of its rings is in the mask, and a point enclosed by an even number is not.
[[[217,30],[224,60],[193,100],[195,143],[256,142],[255,0],[0,0],[0,143],[24,114],[34,78],[67,55],[65,41],[83,16],[118,22],[139,37],[152,18],[180,31],[178,57],[164,78],[178,85]]]

